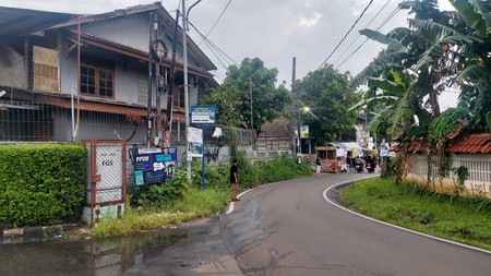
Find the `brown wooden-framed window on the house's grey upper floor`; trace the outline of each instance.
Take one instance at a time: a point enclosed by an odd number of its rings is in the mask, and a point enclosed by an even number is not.
[[[80,93],[105,98],[115,97],[113,72],[107,69],[81,65]]]

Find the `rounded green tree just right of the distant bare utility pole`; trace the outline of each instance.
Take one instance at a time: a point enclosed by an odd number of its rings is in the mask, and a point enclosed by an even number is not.
[[[346,89],[349,74],[342,74],[332,65],[309,72],[296,84],[302,105],[310,108],[301,116],[302,124],[309,125],[310,135],[316,144],[340,140],[354,131],[356,112],[348,108],[359,96]]]

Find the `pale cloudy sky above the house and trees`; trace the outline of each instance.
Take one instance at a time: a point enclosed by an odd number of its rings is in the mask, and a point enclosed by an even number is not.
[[[77,14],[96,14],[146,4],[156,0],[1,0],[0,5]],[[188,0],[187,8],[196,0]],[[244,58],[260,58],[268,69],[278,70],[278,84],[290,85],[292,59],[296,79],[301,80],[324,62],[352,76],[361,72],[383,45],[359,36],[362,28],[387,33],[407,26],[407,10],[391,16],[403,0],[373,0],[359,22],[335,50],[371,0],[202,0],[189,12],[189,34],[218,68],[220,83],[226,68]],[[179,0],[161,0],[175,16]],[[439,0],[441,10],[451,10],[447,0]],[[207,35],[203,41],[202,35]],[[213,46],[209,46],[213,45]],[[358,51],[354,52],[359,46]],[[331,57],[330,57],[331,56]],[[327,59],[327,57],[330,57]],[[327,60],[326,60],[327,59]],[[442,108],[454,106],[456,93],[447,93]]]

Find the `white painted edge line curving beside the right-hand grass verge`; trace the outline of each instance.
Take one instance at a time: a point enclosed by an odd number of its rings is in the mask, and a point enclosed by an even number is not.
[[[467,245],[467,244],[464,244],[464,243],[459,243],[459,242],[456,242],[456,241],[445,240],[445,239],[442,239],[442,238],[439,238],[439,237],[434,237],[434,236],[431,236],[431,235],[428,235],[428,233],[418,232],[418,231],[410,230],[410,229],[406,229],[406,228],[403,228],[403,227],[400,227],[400,226],[392,225],[392,224],[388,224],[388,223],[385,223],[385,221],[382,221],[382,220],[379,220],[379,219],[375,219],[375,218],[372,218],[372,217],[368,217],[368,216],[366,216],[366,215],[356,213],[355,211],[351,211],[351,209],[349,209],[349,208],[346,208],[345,206],[342,206],[342,205],[339,205],[339,204],[333,202],[333,201],[330,200],[330,197],[327,196],[327,193],[331,192],[331,190],[334,190],[334,189],[336,189],[336,188],[338,188],[338,187],[340,187],[340,185],[347,185],[347,184],[352,183],[354,181],[358,181],[358,180],[361,180],[361,179],[349,180],[349,181],[340,182],[340,183],[334,184],[334,185],[332,185],[332,187],[325,189],[324,192],[323,192],[324,200],[326,200],[328,203],[333,204],[334,206],[336,206],[336,207],[338,207],[338,208],[340,208],[340,209],[343,209],[343,211],[349,212],[349,213],[351,213],[351,214],[354,214],[354,215],[357,215],[357,216],[359,216],[359,217],[366,218],[366,219],[368,219],[368,220],[372,220],[372,221],[374,221],[374,223],[379,223],[379,224],[382,224],[382,225],[385,225],[385,226],[390,226],[390,227],[393,227],[393,228],[396,228],[396,229],[399,229],[399,230],[403,230],[403,231],[406,231],[406,232],[419,235],[419,236],[422,236],[422,237],[426,237],[426,238],[429,238],[429,239],[433,239],[433,240],[438,240],[438,241],[443,241],[443,242],[451,243],[451,244],[454,244],[454,245],[458,245],[458,247],[463,247],[463,248],[467,248],[467,249],[471,249],[471,250],[476,250],[476,251],[480,251],[480,252],[483,252],[483,253],[491,254],[491,251],[489,251],[489,250],[484,250],[484,249],[480,249],[480,248],[475,248],[475,247]]]

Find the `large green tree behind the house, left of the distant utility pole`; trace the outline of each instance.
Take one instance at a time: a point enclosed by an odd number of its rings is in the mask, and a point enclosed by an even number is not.
[[[219,123],[241,128],[251,127],[252,105],[252,128],[260,133],[261,125],[284,115],[290,103],[285,85],[275,86],[277,74],[277,69],[265,68],[261,59],[247,58],[240,67],[230,65],[223,85],[209,89],[200,104],[217,105]]]

